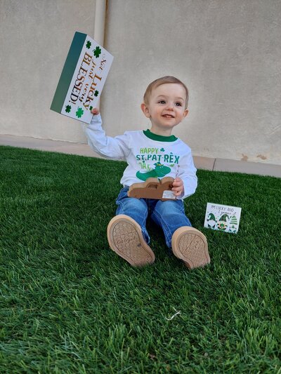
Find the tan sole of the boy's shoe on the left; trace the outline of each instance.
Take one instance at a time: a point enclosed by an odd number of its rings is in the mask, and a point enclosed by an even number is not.
[[[155,261],[155,255],[143,239],[141,226],[128,215],[112,218],[107,226],[107,240],[112,251],[132,266],[144,266]]]

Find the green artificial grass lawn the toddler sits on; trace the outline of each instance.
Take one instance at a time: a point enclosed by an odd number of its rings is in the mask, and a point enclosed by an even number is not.
[[[281,373],[281,180],[198,171],[211,265],[149,223],[139,269],[106,239],[125,166],[0,147],[0,373]],[[204,229],[207,202],[242,207],[238,234]]]

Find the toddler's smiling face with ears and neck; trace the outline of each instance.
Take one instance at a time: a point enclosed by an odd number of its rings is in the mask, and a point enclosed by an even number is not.
[[[181,84],[162,84],[152,90],[148,105],[141,105],[151,121],[151,132],[169,136],[172,129],[188,115],[185,109],[186,93]]]

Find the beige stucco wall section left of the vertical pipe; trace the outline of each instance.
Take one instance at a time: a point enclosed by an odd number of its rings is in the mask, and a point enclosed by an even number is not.
[[[96,0],[0,1],[0,136],[85,142],[49,108],[75,31],[93,35]]]

